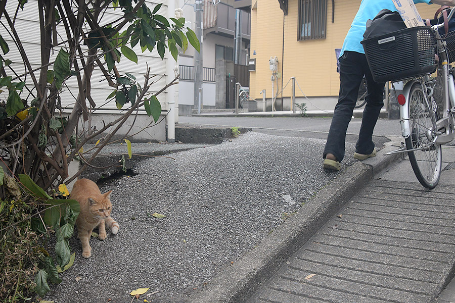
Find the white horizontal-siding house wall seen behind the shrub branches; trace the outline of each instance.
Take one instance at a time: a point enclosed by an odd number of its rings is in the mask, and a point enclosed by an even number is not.
[[[174,1],[174,0],[169,0],[169,1]],[[167,16],[167,4],[165,1],[162,0],[156,0],[154,2],[151,1],[146,1],[147,6],[153,10],[153,8],[157,4],[163,4],[159,10],[159,14],[163,16]],[[17,8],[17,1],[8,1],[6,10],[10,17],[14,16],[15,11]],[[25,4],[24,10],[19,9],[17,13],[17,19],[16,19],[16,29],[17,32],[19,33],[20,39],[23,43],[23,46],[25,48],[25,52],[28,56],[28,59],[30,61],[30,64],[32,68],[38,68],[40,66],[41,58],[40,58],[40,32],[39,32],[39,23],[38,23],[38,16],[37,16],[37,11],[38,11],[38,5],[36,0],[29,0],[28,3]],[[117,10],[107,10],[106,13],[104,14],[103,17],[103,24],[112,22],[119,17],[123,16],[123,13],[121,12],[120,9]],[[102,24],[101,24],[102,25]],[[66,34],[65,34],[65,29],[63,25],[59,25],[58,31],[62,34],[62,36],[58,36],[59,42],[62,41],[63,39],[66,39]],[[88,28],[85,28],[84,31],[86,32],[89,30]],[[124,28],[126,30],[126,27]],[[21,56],[19,54],[19,51],[13,42],[10,34],[4,27],[0,27],[0,34],[3,36],[3,38],[7,41],[9,47],[10,47],[10,52],[4,56],[5,59],[9,59],[12,61],[11,67],[15,69],[15,71],[19,74],[22,74],[25,72],[24,70],[24,64],[22,63]],[[66,45],[68,46],[68,45]],[[87,49],[85,45],[82,45],[83,51]],[[147,67],[151,68],[151,75],[154,77],[149,81],[149,83],[153,83],[151,86],[151,89],[149,90],[150,93],[155,93],[158,90],[160,90],[162,87],[164,87],[167,84],[166,79],[166,60],[168,60],[168,53],[166,52],[164,60],[162,60],[156,49],[153,50],[152,53],[150,53],[148,50],[144,53],[142,53],[141,47],[138,43],[134,48],[134,52],[138,55],[138,64],[129,61],[126,57],[122,56],[121,57],[121,62],[116,64],[118,71],[120,74],[124,74],[125,72],[128,72],[136,77],[138,82],[143,86],[144,84],[144,74],[147,71]],[[54,48],[53,54],[51,54],[51,62],[54,61],[58,55],[58,52],[60,51],[60,47],[57,46]],[[104,59],[100,60],[101,62],[104,62]],[[80,64],[80,62],[78,62]],[[53,68],[51,65],[49,67],[50,69]],[[72,68],[74,69],[74,67]],[[7,69],[7,74],[12,74],[11,71]],[[39,77],[39,71],[35,72],[36,77]],[[169,78],[173,78],[173,75],[171,75]],[[24,80],[25,78],[21,78],[21,80]],[[113,91],[113,87],[110,87],[107,84],[107,81],[101,81],[104,79],[103,74],[99,69],[95,69],[93,76],[92,76],[92,90],[91,90],[91,95],[92,98],[94,99],[95,103],[97,104],[97,108],[103,106],[102,109],[98,109],[98,113],[113,113],[113,114],[118,114],[121,113],[116,108],[115,105],[115,100],[112,100],[111,102],[106,104],[106,97]],[[101,82],[100,82],[101,81]],[[28,85],[33,85],[33,82],[31,81],[31,77],[27,76],[26,78],[26,83]],[[72,92],[70,92],[69,90]],[[77,89],[77,79],[76,77],[71,77],[66,81],[66,83],[62,86],[62,93],[61,93],[61,99],[62,99],[62,107],[66,109],[66,112],[70,112],[71,109],[74,106],[75,102],[75,97],[77,96],[78,89]],[[24,89],[21,97],[22,98],[27,98],[28,92]],[[0,98],[5,96],[0,95]],[[167,104],[167,95],[166,92],[161,93],[158,95],[158,99],[161,103],[161,107],[163,110],[166,109],[166,104]],[[32,97],[28,98],[30,101]],[[88,104],[88,103],[87,103]],[[141,114],[145,114],[144,109],[142,108],[140,111]],[[164,123],[162,123],[164,124]],[[164,138],[164,126],[162,129],[159,131],[162,132],[163,135],[158,135],[161,139]]]

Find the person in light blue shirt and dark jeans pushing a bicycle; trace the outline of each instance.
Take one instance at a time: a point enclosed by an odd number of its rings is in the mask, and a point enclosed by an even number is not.
[[[414,3],[427,3],[455,6],[455,0],[414,0]],[[382,91],[385,83],[373,80],[367,58],[360,43],[366,30],[367,20],[374,19],[383,9],[396,11],[392,0],[362,0],[351,27],[344,39],[339,55],[340,93],[324,148],[324,168],[340,170],[344,158],[346,131],[354,111],[357,93],[365,76],[367,80],[367,104],[363,110],[362,124],[355,144],[354,158],[365,160],[376,156],[373,143],[373,129],[384,106]]]

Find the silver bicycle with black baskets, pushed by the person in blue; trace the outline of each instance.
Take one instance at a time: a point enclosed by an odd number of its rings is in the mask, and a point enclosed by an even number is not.
[[[447,20],[452,18],[454,12],[455,10],[452,8]],[[450,54],[451,51],[455,52],[455,45],[453,45],[453,49],[451,49],[453,43],[449,43],[450,47],[447,46],[446,40],[450,33],[444,37],[439,34],[438,29],[443,26],[444,23],[431,27],[412,27],[391,33],[389,38],[393,37],[395,46],[399,48],[398,44],[401,37],[398,32],[403,32],[403,35],[413,32],[413,41],[418,43],[418,47],[413,46],[414,52],[411,59],[415,61],[416,57],[419,57],[420,65],[419,70],[414,69],[412,71],[403,71],[403,66],[401,66],[395,75],[384,76],[384,78],[381,78],[377,65],[371,59],[374,50],[370,49],[372,54],[368,54],[370,45],[367,45],[369,44],[367,42],[364,44],[365,40],[362,41],[375,81],[380,82],[386,79],[388,79],[386,81],[392,82],[405,81],[402,93],[397,96],[400,105],[400,127],[401,134],[404,137],[404,146],[386,155],[407,153],[417,179],[429,189],[436,187],[441,175],[441,145],[455,138],[455,82],[453,80],[455,68],[449,66],[450,62],[455,61],[455,56]],[[382,36],[378,37],[378,40],[381,39],[383,39]],[[435,45],[439,62],[436,62],[434,58]],[[397,52],[409,53],[410,50],[402,48],[398,49]],[[453,57],[451,58],[453,60],[449,60],[449,55]],[[441,113],[433,94],[436,78],[431,77],[436,68],[438,69],[438,76],[439,73],[442,74],[440,76],[443,83],[443,110]]]

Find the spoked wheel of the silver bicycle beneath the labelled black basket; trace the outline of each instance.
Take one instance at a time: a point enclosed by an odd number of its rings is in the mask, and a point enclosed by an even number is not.
[[[413,85],[408,102],[411,135],[405,139],[409,161],[419,182],[434,188],[439,182],[442,166],[441,144],[433,142],[437,111],[432,110],[420,83]],[[431,100],[429,100],[431,102]]]

